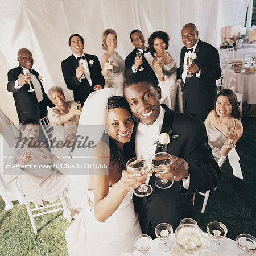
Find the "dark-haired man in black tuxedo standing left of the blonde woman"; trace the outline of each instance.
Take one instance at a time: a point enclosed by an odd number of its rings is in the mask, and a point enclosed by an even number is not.
[[[80,101],[83,106],[91,92],[104,87],[105,80],[101,75],[101,64],[97,56],[84,53],[82,36],[71,35],[68,44],[73,54],[61,62],[62,73],[68,89],[73,90],[74,100]]]

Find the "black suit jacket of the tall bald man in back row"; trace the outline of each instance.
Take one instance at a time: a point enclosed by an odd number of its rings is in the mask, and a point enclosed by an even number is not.
[[[181,49],[177,78],[181,78],[183,72],[185,50],[186,47]],[[197,59],[194,63],[201,69],[201,75],[200,78],[197,78],[195,74],[187,77],[185,83],[181,78],[183,110],[184,113],[204,121],[209,112],[214,109],[217,96],[216,80],[221,76],[220,58],[216,48],[201,40],[197,44],[195,53]]]

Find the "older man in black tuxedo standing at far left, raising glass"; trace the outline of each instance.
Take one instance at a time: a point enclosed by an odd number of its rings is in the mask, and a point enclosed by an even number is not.
[[[19,123],[28,117],[40,119],[47,115],[47,106],[54,105],[44,92],[44,88],[39,74],[34,69],[32,53],[25,48],[19,49],[17,54],[19,67],[11,69],[8,72],[7,90],[13,93],[16,110],[19,117]],[[23,75],[23,69],[29,69],[31,76],[28,78]],[[34,92],[28,92],[30,86],[28,82],[31,81]]]

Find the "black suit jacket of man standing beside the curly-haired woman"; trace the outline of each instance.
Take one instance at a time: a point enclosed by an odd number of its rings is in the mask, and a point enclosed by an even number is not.
[[[133,67],[133,64],[134,64],[136,52],[139,52],[139,50],[137,48],[135,48],[125,59],[125,78],[129,77],[131,74],[133,74],[133,70],[131,69],[131,67]],[[151,55],[152,55],[152,53],[151,53]],[[142,56],[142,61],[143,62],[142,62],[141,66],[144,68],[143,72],[149,73],[153,77],[153,79],[156,82],[158,82],[158,78],[156,77],[154,70],[151,68],[150,64],[148,64],[148,62],[144,56]],[[139,72],[139,71],[137,71],[137,72]]]

